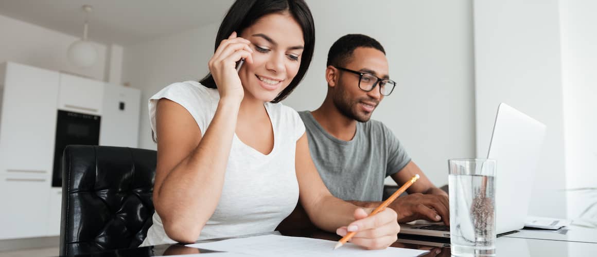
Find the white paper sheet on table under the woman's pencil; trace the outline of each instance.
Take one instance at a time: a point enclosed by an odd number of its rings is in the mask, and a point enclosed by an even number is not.
[[[365,250],[356,244],[346,243],[334,250],[337,241],[311,239],[307,237],[288,237],[266,235],[227,239],[210,243],[187,244],[186,246],[217,250],[230,253],[242,253],[254,256],[418,256],[427,250],[387,247],[383,250]],[[217,255],[214,255],[216,257]]]

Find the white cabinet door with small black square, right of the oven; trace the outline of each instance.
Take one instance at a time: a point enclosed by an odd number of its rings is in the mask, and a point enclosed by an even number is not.
[[[100,145],[138,147],[141,91],[104,85]]]

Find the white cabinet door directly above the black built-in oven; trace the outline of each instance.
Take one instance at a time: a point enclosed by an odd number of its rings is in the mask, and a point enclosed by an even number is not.
[[[101,114],[104,82],[60,73],[58,109]]]

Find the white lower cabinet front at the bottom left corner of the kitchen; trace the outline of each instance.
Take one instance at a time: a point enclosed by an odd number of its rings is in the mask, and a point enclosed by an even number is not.
[[[0,175],[0,240],[47,236],[50,179]]]

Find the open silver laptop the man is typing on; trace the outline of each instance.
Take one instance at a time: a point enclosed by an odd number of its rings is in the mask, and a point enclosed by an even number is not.
[[[496,233],[508,234],[524,227],[531,188],[546,127],[507,104],[497,109],[488,159],[497,163]],[[443,222],[415,221],[401,224],[401,234],[450,237]]]

